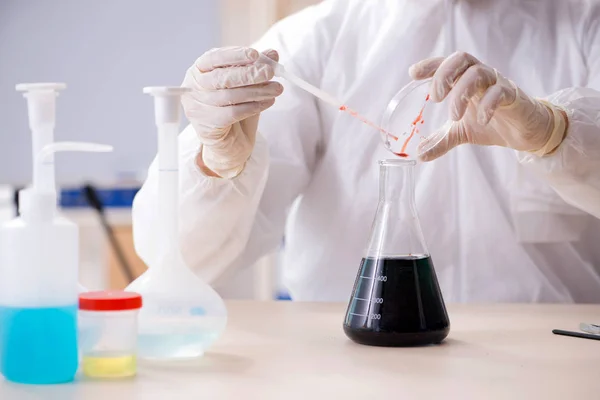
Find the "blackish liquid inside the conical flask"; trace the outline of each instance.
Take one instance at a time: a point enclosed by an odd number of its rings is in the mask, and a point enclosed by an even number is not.
[[[344,332],[372,346],[440,343],[450,321],[429,256],[364,258]]]

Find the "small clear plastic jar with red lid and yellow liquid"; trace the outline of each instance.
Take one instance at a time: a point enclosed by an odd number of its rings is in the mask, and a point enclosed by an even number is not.
[[[90,378],[125,378],[137,372],[137,324],[142,296],[132,292],[79,295],[81,368]]]

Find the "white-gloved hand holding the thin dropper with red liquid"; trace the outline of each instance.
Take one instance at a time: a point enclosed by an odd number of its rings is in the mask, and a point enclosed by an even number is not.
[[[273,60],[275,50],[265,54]],[[196,60],[181,86],[185,115],[202,143],[200,169],[211,176],[233,178],[244,169],[256,141],[259,114],[275,103],[283,86],[271,82],[273,68],[245,47],[209,50]]]

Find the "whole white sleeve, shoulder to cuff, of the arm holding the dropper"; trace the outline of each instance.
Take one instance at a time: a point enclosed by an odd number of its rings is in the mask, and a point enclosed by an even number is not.
[[[276,49],[280,61],[319,84],[337,10],[332,1],[276,24],[255,48]],[[321,142],[317,103],[284,84],[284,93],[261,115],[254,151],[240,176],[203,175],[195,158],[200,142],[191,126],[180,135],[180,242],[184,260],[201,278],[219,285],[237,267],[249,266],[278,248],[287,212],[310,180]],[[156,161],[135,198],[136,251],[152,266],[157,244]]]

